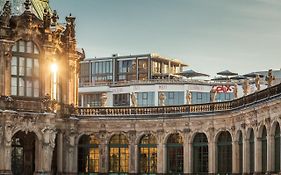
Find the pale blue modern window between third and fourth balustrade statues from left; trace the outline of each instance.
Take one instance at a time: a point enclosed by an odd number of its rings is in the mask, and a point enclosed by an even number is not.
[[[161,93],[164,93],[165,95],[165,106],[169,105],[183,105],[184,104],[184,92],[183,91],[175,91],[175,92],[159,92],[158,96],[160,96]],[[160,100],[158,101],[158,104],[160,104]]]

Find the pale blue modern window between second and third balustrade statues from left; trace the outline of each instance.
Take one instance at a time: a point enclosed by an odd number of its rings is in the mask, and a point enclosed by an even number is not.
[[[137,92],[138,106],[155,106],[154,92]]]

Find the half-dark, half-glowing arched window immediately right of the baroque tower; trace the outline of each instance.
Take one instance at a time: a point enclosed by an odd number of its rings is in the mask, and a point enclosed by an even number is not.
[[[94,136],[83,135],[78,143],[78,173],[99,172],[99,141]]]

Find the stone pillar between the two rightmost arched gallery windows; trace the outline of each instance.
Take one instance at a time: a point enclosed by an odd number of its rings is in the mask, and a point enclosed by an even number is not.
[[[269,133],[269,132],[268,132]],[[267,135],[267,172],[274,171],[274,135]]]

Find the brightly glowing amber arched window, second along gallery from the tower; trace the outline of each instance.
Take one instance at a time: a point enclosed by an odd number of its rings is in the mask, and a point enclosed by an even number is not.
[[[123,134],[114,135],[109,142],[109,172],[129,172],[129,142]]]

